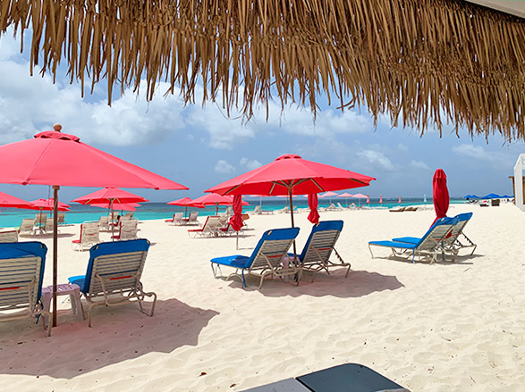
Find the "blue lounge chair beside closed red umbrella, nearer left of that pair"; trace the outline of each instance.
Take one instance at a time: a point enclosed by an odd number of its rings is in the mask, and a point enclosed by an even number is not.
[[[370,254],[372,254],[372,258],[374,258],[372,246],[383,246],[389,247],[392,250],[391,255],[401,257],[411,256],[412,263],[414,263],[416,256],[419,256],[419,259],[423,257],[430,257],[430,263],[434,263],[437,261],[438,253],[445,254],[443,242],[457,221],[457,218],[439,219],[430,227],[430,229],[428,229],[427,233],[425,233],[422,238],[419,238],[419,241],[415,244],[398,241],[370,241],[368,242],[368,249],[370,250]],[[455,254],[453,259],[455,259]]]

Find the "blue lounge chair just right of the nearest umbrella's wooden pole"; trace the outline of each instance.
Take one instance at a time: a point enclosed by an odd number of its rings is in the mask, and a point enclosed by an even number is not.
[[[157,294],[143,291],[140,283],[148,248],[147,239],[133,239],[103,242],[89,249],[86,275],[69,278],[71,284],[80,286],[80,293],[89,303],[89,327],[92,310],[97,305],[115,306],[138,302],[140,312],[153,316]],[[142,301],[146,296],[153,296],[150,313],[142,309]]]

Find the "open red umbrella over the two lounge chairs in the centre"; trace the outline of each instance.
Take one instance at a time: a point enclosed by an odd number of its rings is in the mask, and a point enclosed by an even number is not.
[[[293,195],[367,187],[373,179],[353,171],[307,161],[296,154],[284,154],[271,163],[209,188],[206,192],[219,195],[287,195],[293,226]]]

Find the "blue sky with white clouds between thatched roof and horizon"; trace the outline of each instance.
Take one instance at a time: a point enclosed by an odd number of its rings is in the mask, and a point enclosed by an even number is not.
[[[270,104],[268,121],[264,108],[248,122],[237,114],[227,119],[220,103],[201,106],[200,91],[198,104],[187,106],[178,96],[163,96],[163,83],[151,102],[126,91],[110,107],[105,83],[93,95],[88,87],[82,98],[80,85],[70,85],[64,69],[55,84],[38,70],[30,77],[27,54],[20,54],[20,43],[9,35],[0,39],[0,75],[0,144],[32,138],[60,122],[64,132],[81,141],[190,188],[131,190],[151,201],[201,196],[204,189],[281,154],[375,177],[370,187],[354,192],[370,197],[431,196],[439,168],[447,174],[451,196],[512,195],[508,177],[518,154],[525,152],[522,141],[504,143],[497,135],[472,139],[466,129],[458,137],[452,125],[444,127],[442,138],[436,129],[420,137],[419,129],[392,128],[386,116],[374,127],[366,107],[342,113],[323,97],[315,123],[309,108],[291,106],[282,113],[278,103]],[[0,190],[28,200],[48,194],[47,187],[36,186],[0,184]],[[60,199],[67,202],[91,191],[63,188]]]

